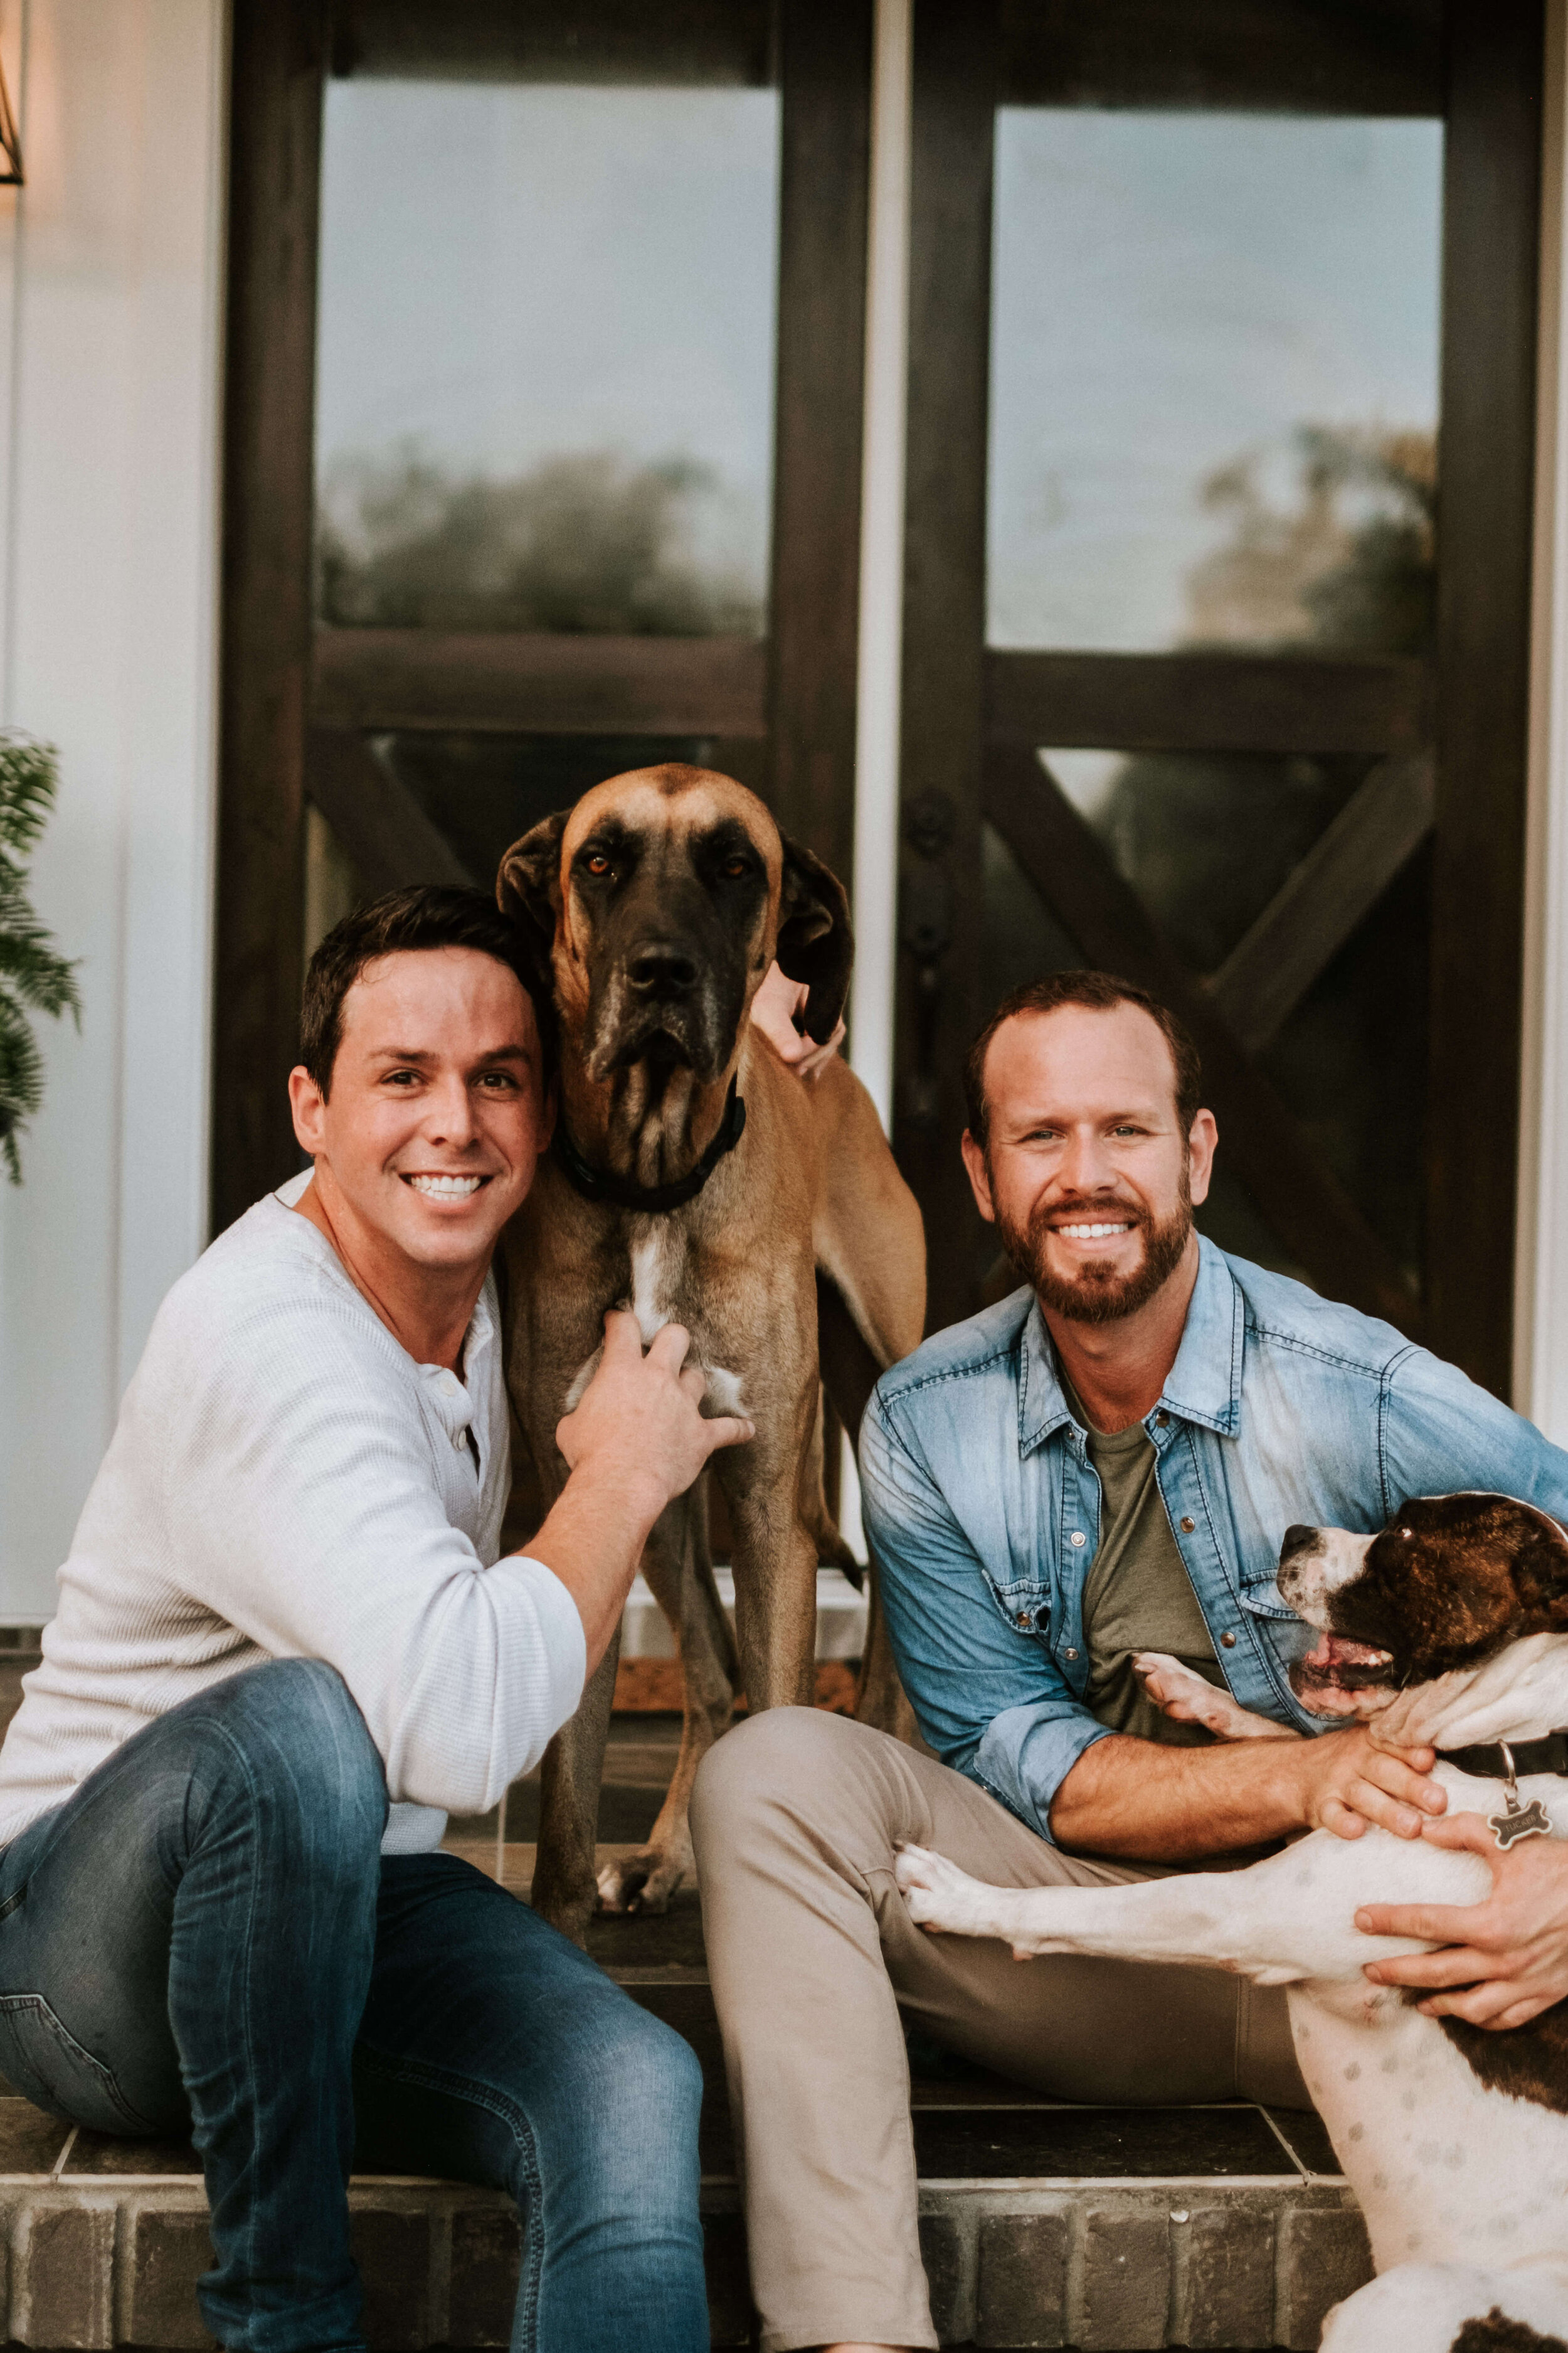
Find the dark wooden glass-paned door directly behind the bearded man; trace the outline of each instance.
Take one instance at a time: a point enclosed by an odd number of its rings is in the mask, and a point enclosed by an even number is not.
[[[1006,986],[1194,1031],[1204,1224],[1507,1395],[1537,0],[917,0],[896,1144]]]

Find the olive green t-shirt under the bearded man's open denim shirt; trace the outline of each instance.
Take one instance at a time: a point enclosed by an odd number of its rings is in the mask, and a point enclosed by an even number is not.
[[[1171,1722],[1145,1699],[1133,1673],[1135,1652],[1166,1649],[1197,1675],[1225,1685],[1154,1478],[1154,1440],[1140,1421],[1107,1438],[1095,1431],[1065,1374],[1063,1393],[1088,1435],[1088,1459],[1100,1478],[1100,1544],[1084,1579],[1086,1704],[1112,1732],[1204,1748],[1213,1734],[1201,1725]]]

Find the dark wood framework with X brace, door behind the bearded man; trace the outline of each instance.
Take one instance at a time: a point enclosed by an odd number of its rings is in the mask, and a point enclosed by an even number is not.
[[[990,1254],[957,1155],[959,1056],[987,1012],[978,1005],[985,814],[1088,962],[1126,969],[1182,1007],[1201,1040],[1232,1165],[1314,1280],[1420,1332],[1507,1395],[1542,5],[1448,0],[1441,42],[1434,9],[1432,26],[1406,40],[1403,52],[1394,40],[1349,64],[1324,49],[1326,38],[1340,35],[1326,35],[1312,12],[1253,7],[1258,40],[1246,52],[1239,35],[1248,7],[1232,7],[1229,47],[1211,40],[1204,49],[1194,35],[1190,59],[1175,56],[1171,42],[1140,45],[1140,28],[1150,33],[1154,14],[1147,0],[1112,0],[1093,12],[1091,40],[1084,33],[1091,19],[1058,5],[917,0],[914,7],[896,1144],[926,1226],[943,1238],[931,1252],[931,1320],[973,1311]],[[1378,106],[1366,111],[1420,113],[1439,99],[1439,71],[1446,226],[1434,675],[1410,661],[983,654],[997,101],[1063,104],[1110,92],[1121,104],[1150,106],[1338,111],[1356,106],[1359,89],[1373,89]],[[1241,944],[1237,969],[1227,965],[1201,986],[1056,791],[1034,758],[1041,744],[1366,751],[1382,755],[1382,765]],[[1420,758],[1425,748],[1429,760]],[[1251,1049],[1262,1042],[1267,1019],[1284,1019],[1291,986],[1305,986],[1345,936],[1347,878],[1366,908],[1368,880],[1392,880],[1429,828],[1427,1282],[1418,1304],[1262,1080]],[[1253,1007],[1248,976],[1279,965],[1286,936],[1293,979],[1279,974],[1272,1012]]]

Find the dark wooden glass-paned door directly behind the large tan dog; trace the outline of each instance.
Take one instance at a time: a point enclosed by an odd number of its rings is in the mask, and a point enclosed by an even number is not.
[[[303,958],[698,760],[849,875],[870,0],[237,0],[214,1226]]]

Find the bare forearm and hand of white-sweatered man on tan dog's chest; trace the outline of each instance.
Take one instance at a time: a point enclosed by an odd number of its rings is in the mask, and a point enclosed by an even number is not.
[[[611,1308],[599,1367],[555,1431],[571,1478],[529,1555],[555,1569],[578,1605],[590,1675],[621,1624],[658,1513],[710,1454],[757,1435],[741,1414],[703,1414],[708,1384],[686,1365],[689,1344],[682,1325],[665,1325],[644,1355],[637,1318]]]

